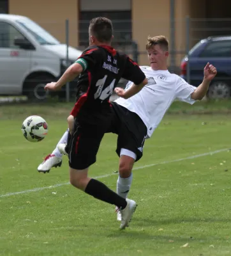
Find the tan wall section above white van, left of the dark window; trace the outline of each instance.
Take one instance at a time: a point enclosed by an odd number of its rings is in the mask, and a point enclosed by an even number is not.
[[[78,0],[9,0],[9,13],[29,17],[62,43],[66,42],[65,20],[70,21],[70,45],[78,45]]]

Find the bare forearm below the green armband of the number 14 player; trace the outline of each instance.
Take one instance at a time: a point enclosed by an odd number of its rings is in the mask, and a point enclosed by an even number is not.
[[[72,81],[77,77],[83,70],[82,65],[79,63],[73,63],[68,69],[64,72],[63,76],[57,81],[57,83],[48,83],[45,86],[45,90],[49,91],[57,91],[61,90],[61,88],[64,86],[64,84]]]

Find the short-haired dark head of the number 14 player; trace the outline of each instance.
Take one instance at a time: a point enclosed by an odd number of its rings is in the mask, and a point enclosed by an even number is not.
[[[110,42],[113,35],[112,21],[105,17],[97,17],[90,21],[89,34],[100,42]]]

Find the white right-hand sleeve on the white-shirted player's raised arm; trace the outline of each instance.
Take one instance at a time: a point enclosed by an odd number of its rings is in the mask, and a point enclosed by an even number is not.
[[[183,78],[177,78],[177,82],[175,84],[175,98],[193,104],[196,100],[191,99],[191,93],[193,93],[197,87],[188,84]]]

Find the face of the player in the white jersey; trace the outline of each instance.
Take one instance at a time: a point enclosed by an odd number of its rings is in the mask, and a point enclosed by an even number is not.
[[[167,70],[168,51],[163,51],[160,45],[153,45],[147,50],[151,68],[154,70]]]

